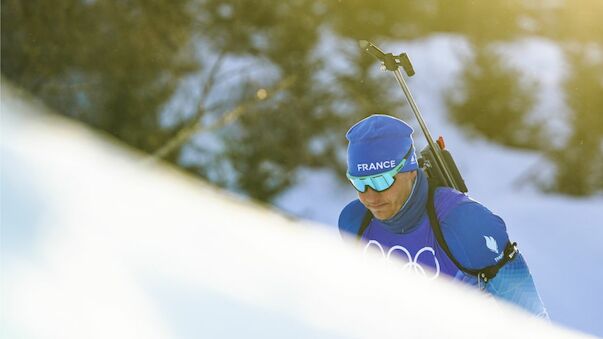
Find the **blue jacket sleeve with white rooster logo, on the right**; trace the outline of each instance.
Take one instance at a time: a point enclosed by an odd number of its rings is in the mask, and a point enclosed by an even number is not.
[[[476,201],[452,209],[442,220],[442,233],[450,251],[465,267],[480,269],[495,265],[509,236],[504,221]],[[532,275],[521,253],[503,266],[485,290],[532,314],[548,318]]]

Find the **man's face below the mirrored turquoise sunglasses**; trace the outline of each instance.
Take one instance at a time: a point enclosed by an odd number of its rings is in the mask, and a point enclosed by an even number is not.
[[[412,191],[412,186],[417,171],[396,174],[394,184],[383,192],[377,192],[372,188],[366,188],[364,193],[358,192],[360,202],[368,208],[373,215],[380,220],[386,220],[394,216]]]

